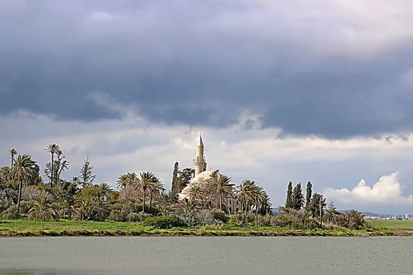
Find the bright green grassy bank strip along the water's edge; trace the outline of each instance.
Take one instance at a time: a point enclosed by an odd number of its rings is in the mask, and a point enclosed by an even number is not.
[[[399,229],[374,228],[369,230],[293,230],[289,228],[253,226],[240,228],[224,227],[155,229],[140,223],[96,222],[96,221],[0,221],[0,236],[394,236],[412,235]]]

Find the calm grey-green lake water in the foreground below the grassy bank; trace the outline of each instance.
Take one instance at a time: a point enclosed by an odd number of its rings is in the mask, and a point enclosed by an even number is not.
[[[412,259],[412,237],[0,239],[1,275],[402,275],[413,273]]]

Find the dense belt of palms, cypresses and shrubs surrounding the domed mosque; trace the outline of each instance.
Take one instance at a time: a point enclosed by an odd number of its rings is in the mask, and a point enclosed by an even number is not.
[[[118,190],[114,190],[109,183],[94,182],[96,175],[89,156],[85,158],[78,177],[67,180],[63,179],[63,173],[69,169],[70,163],[60,146],[49,144],[45,151],[51,156],[51,162],[45,164],[44,169],[48,182],[43,182],[40,167],[32,157],[19,155],[15,149],[9,151],[10,166],[0,168],[0,216],[8,220],[0,223],[3,235],[18,234],[16,232],[24,232],[25,228],[37,232],[30,233],[33,235],[46,234],[44,230],[48,227],[37,228],[39,224],[59,228],[60,231],[55,232],[58,235],[89,227],[92,227],[92,232],[103,235],[116,235],[122,230],[123,234],[141,234],[151,229],[182,233],[183,228],[187,228],[187,234],[195,234],[193,230],[235,230],[243,232],[240,235],[249,235],[253,230],[258,234],[260,227],[277,232],[261,235],[277,235],[285,230],[344,230],[348,235],[348,230],[370,228],[361,212],[339,213],[332,202],[327,205],[322,195],[312,193],[310,182],[306,186],[305,197],[301,184],[293,188],[290,182],[286,202],[273,216],[270,198],[255,181],[246,179],[234,187],[231,177],[222,175],[219,170],[214,171],[206,182],[191,186],[188,199],[178,201],[178,193],[189,184],[194,174],[191,168],[180,170],[178,162],[173,168],[169,191],[151,172],[120,175],[116,182]],[[228,214],[224,203],[228,197],[240,201],[240,212]],[[96,223],[99,221],[109,223]],[[96,224],[100,224],[100,229],[94,229]],[[22,228],[13,231],[14,225]]]

